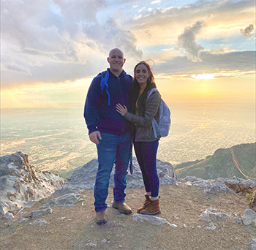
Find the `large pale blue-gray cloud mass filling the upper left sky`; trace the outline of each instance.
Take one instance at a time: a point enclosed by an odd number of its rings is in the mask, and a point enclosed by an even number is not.
[[[1,86],[91,77],[108,67],[115,47],[141,58],[118,19],[99,24],[97,13],[107,7],[107,0],[1,1]]]

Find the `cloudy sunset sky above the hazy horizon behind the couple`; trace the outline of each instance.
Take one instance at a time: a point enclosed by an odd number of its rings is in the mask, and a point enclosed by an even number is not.
[[[165,99],[255,101],[254,0],[1,0],[1,108],[82,105],[113,48]]]

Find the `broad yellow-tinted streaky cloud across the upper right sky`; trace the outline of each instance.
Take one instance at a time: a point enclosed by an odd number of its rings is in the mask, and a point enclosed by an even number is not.
[[[246,13],[246,14],[245,14]],[[123,25],[138,39],[138,46],[176,43],[178,34],[186,26],[203,20],[207,26],[198,38],[216,39],[238,34],[241,25],[255,20],[254,1],[195,1],[181,7],[155,8],[148,15],[136,14],[125,20]],[[153,39],[147,39],[144,31],[149,29]]]

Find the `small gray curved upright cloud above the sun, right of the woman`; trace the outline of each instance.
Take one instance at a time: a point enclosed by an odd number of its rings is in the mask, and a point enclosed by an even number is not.
[[[184,49],[188,53],[188,58],[191,61],[202,61],[200,59],[200,52],[204,49],[202,45],[195,42],[197,34],[200,34],[203,28],[203,21],[198,21],[193,26],[187,26],[184,32],[178,36],[178,48]]]

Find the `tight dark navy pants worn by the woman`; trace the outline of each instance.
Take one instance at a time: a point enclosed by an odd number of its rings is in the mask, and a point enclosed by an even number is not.
[[[157,175],[157,148],[159,140],[154,142],[135,142],[135,154],[140,164],[146,192],[151,192],[151,197],[159,193],[159,178]]]

